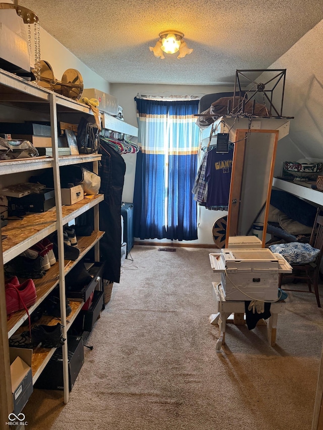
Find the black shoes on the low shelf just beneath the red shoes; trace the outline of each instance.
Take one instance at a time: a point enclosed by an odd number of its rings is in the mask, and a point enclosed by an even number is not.
[[[14,348],[36,348],[39,344],[43,348],[58,348],[64,344],[62,325],[36,325],[31,331],[14,334],[9,339],[9,345]]]

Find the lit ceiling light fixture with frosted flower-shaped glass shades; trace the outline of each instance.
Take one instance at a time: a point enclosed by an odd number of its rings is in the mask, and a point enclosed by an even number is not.
[[[153,51],[155,57],[164,59],[164,53],[174,54],[180,52],[177,58],[183,58],[185,55],[193,52],[193,49],[187,47],[186,42],[182,40],[184,34],[177,30],[166,30],[159,33],[159,40],[154,47],[149,46],[150,51]]]

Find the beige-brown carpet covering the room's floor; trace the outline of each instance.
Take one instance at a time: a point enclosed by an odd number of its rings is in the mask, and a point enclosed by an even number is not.
[[[310,430],[323,339],[314,294],[289,292],[276,346],[264,326],[228,324],[217,353],[213,251],[135,246],[68,404],[60,391],[34,390],[28,428]]]

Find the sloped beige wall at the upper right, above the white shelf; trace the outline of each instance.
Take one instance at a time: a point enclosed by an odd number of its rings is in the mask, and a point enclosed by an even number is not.
[[[307,157],[323,159],[323,20],[308,31],[268,69],[286,69],[285,115],[289,138],[280,142],[277,162]],[[281,158],[281,153],[285,158]]]

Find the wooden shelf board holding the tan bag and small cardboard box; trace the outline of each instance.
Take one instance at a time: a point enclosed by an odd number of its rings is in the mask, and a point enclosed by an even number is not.
[[[85,197],[74,205],[63,206],[63,223],[67,224],[102,200],[103,195],[98,194],[90,199]],[[2,228],[2,234],[8,236],[2,244],[4,264],[56,229],[56,210],[28,214],[22,220],[9,220],[8,224]]]

